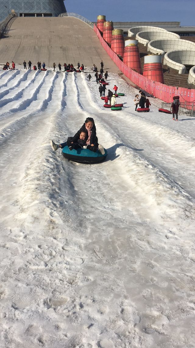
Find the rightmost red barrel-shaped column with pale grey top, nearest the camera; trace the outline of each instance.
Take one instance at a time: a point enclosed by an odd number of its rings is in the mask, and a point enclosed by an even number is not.
[[[143,76],[150,80],[164,83],[161,55],[144,56]]]

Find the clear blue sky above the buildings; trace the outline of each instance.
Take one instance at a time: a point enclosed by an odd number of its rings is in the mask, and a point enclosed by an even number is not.
[[[97,21],[105,15],[113,22],[181,22],[195,26],[194,0],[65,0],[67,12]]]

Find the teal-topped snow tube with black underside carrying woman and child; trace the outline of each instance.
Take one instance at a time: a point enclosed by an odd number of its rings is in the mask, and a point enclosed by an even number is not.
[[[85,164],[94,164],[103,162],[107,156],[107,151],[104,149],[105,154],[102,155],[98,150],[96,152],[90,151],[88,149],[73,149],[72,151],[69,150],[69,147],[66,145],[62,149],[62,155],[70,159],[74,162],[79,163],[85,163]]]

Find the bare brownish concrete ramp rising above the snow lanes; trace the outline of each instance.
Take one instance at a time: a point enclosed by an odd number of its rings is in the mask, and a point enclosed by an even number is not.
[[[94,30],[74,17],[18,17],[8,34],[0,40],[0,63],[14,61],[23,64],[30,60],[45,62],[46,66],[79,61],[85,66],[103,60],[106,69],[118,68],[101,46]]]

